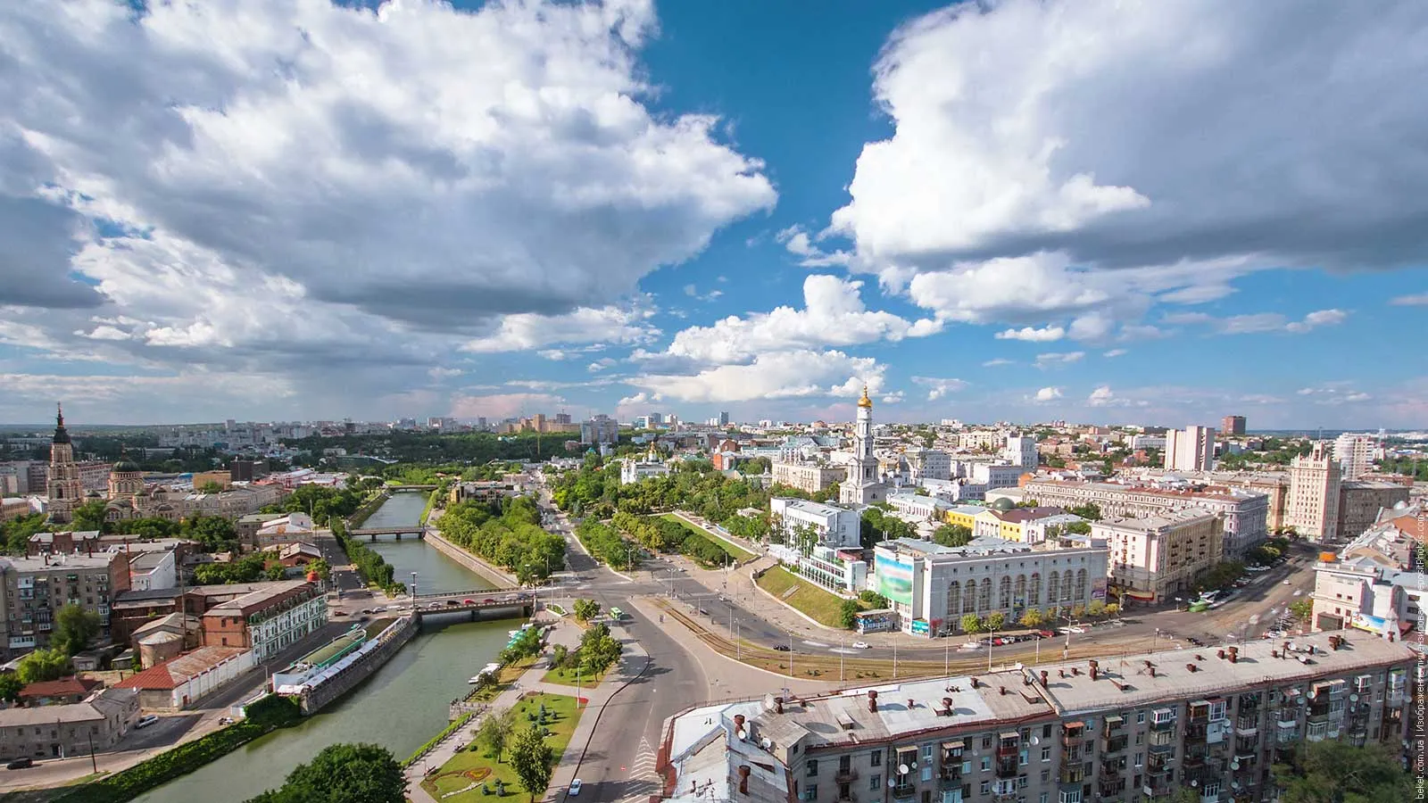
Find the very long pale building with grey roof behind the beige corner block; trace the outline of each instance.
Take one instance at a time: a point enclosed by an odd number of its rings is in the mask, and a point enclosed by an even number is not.
[[[1221,553],[1227,557],[1238,557],[1268,537],[1269,497],[1251,490],[1232,487],[1175,490],[1118,483],[1032,480],[1022,486],[1022,492],[1027,499],[1035,499],[1040,504],[1077,507],[1095,503],[1101,509],[1101,516],[1107,519],[1164,516],[1180,510],[1218,513],[1224,519],[1225,537]]]

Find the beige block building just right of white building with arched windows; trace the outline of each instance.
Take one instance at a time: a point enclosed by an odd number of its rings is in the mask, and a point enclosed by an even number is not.
[[[1197,574],[1224,559],[1224,519],[1202,510],[1095,522],[1091,537],[1110,549],[1111,584],[1142,602],[1190,592]]]

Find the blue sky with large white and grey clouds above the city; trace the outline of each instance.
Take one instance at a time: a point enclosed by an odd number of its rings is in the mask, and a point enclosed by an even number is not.
[[[1428,4],[0,4],[0,422],[1428,426]]]

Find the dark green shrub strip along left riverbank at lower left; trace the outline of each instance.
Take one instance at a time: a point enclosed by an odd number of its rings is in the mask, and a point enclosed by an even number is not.
[[[159,753],[127,770],[76,786],[56,797],[53,803],[124,803],[133,800],[150,789],[231,753],[264,733],[287,727],[300,719],[301,713],[294,700],[268,694],[248,706],[243,720],[193,742],[184,742],[173,750]]]

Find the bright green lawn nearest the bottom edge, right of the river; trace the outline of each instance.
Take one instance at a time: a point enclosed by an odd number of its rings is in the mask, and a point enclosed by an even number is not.
[[[554,763],[558,764],[560,756],[565,752],[565,746],[570,744],[570,734],[575,730],[575,723],[580,722],[581,712],[575,709],[574,697],[564,694],[531,694],[523,697],[516,704],[516,727],[530,727],[531,723],[526,719],[526,714],[538,713],[541,703],[545,704],[547,713],[554,712],[555,714],[554,722],[547,720],[545,727],[550,729],[551,734],[545,737],[545,743],[550,744]],[[508,756],[503,754],[501,762],[497,762],[484,744],[471,744],[457,753],[450,762],[441,764],[440,770],[427,776],[421,782],[421,789],[426,789],[427,793],[443,803],[494,803],[497,779],[506,783],[507,797],[524,796],[528,799],[528,793],[521,789],[521,782],[516,777],[516,770],[508,763]],[[473,783],[476,784],[474,789],[451,794]],[[481,783],[486,783],[491,789],[491,794],[481,794]],[[536,794],[540,796],[544,792],[544,789],[538,789]],[[446,797],[447,794],[451,796]]]

